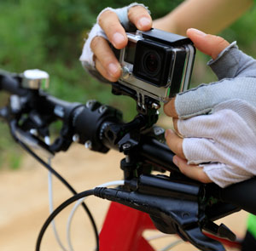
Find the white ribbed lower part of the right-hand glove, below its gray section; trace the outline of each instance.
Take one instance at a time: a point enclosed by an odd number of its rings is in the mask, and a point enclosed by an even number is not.
[[[189,164],[201,164],[219,186],[256,175],[256,108],[241,100],[219,104],[207,116],[179,120],[185,138],[183,152]]]

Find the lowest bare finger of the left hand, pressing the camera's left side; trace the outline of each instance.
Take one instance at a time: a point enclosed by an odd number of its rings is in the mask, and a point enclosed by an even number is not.
[[[96,57],[96,69],[109,81],[116,82],[121,75],[121,66],[107,40],[103,37],[95,37],[90,47]]]

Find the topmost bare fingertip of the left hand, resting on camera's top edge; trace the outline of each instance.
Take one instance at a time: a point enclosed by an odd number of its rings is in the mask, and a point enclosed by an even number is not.
[[[143,6],[134,6],[128,11],[128,18],[138,30],[148,31],[152,27],[152,19]]]

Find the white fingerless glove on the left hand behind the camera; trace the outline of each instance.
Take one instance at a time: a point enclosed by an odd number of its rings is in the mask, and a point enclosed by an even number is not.
[[[97,16],[97,22],[96,24],[92,27],[92,29],[90,30],[90,33],[88,35],[88,38],[86,39],[85,43],[84,43],[84,48],[83,48],[83,52],[79,58],[79,60],[82,62],[82,65],[84,66],[85,70],[89,71],[90,73],[92,73],[92,75],[94,75],[95,77],[99,78],[94,72],[91,71],[96,71],[95,68],[95,62],[93,60],[93,52],[90,48],[90,43],[93,40],[93,38],[99,36],[99,37],[104,37],[105,39],[108,40],[108,37],[106,35],[106,33],[102,30],[102,27],[99,26],[99,18],[101,16],[101,14],[107,10],[113,11],[115,14],[118,15],[119,17],[119,21],[121,23],[122,26],[124,26],[125,31],[129,31],[129,29],[131,29],[131,27],[134,27],[131,25],[130,20],[128,19],[128,10],[131,9],[131,7],[134,6],[143,6],[145,9],[148,10],[148,7],[146,7],[144,4],[141,3],[131,3],[129,6],[126,6],[124,8],[119,8],[119,9],[113,9],[113,8],[106,8],[103,9],[102,12],[100,14],[98,14]],[[149,10],[148,13],[150,14]],[[102,80],[102,79],[100,79]]]

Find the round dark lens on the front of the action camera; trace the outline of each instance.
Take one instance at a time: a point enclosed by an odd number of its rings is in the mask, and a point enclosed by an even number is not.
[[[156,76],[160,71],[160,55],[154,51],[149,51],[143,56],[143,66],[149,76]]]

